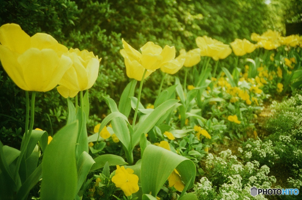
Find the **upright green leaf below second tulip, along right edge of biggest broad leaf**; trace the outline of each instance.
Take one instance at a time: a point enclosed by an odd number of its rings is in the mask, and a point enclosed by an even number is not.
[[[81,117],[81,112],[82,112],[82,107],[78,108],[78,112],[76,114],[76,120],[79,121],[79,131],[78,131],[78,136],[79,137],[79,144],[77,148],[77,153],[78,156],[80,156],[84,151],[88,153],[88,135],[87,135],[87,128],[86,128],[86,113],[83,112],[83,120]],[[82,125],[82,129],[80,130],[80,126]]]

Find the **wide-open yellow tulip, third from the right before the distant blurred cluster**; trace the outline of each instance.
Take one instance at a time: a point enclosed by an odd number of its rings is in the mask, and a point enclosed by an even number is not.
[[[207,36],[197,37],[196,44],[201,49],[201,56],[209,56],[214,60],[225,59],[232,53],[230,45]]]

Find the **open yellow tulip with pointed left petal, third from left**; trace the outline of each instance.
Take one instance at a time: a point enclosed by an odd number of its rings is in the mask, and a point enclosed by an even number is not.
[[[145,69],[147,69],[147,72],[144,78],[162,66],[177,65],[177,62],[173,61],[175,58],[175,47],[166,45],[162,49],[162,47],[153,42],[147,42],[140,48],[142,52],[140,53],[133,49],[124,39],[122,39],[122,42],[124,49],[120,50],[120,54],[124,57],[126,73],[129,78],[141,81]]]

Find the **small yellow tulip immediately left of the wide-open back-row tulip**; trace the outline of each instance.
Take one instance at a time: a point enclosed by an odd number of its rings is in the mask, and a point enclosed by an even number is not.
[[[200,62],[200,49],[192,49],[186,52],[185,49],[179,51],[178,59],[185,59],[184,66],[192,67]]]

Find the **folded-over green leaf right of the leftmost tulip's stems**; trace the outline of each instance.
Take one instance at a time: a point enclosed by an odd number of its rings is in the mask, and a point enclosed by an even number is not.
[[[31,155],[36,145],[40,142],[42,151],[45,150],[48,143],[48,134],[46,131],[33,130],[26,149],[26,159]]]

